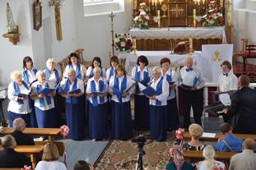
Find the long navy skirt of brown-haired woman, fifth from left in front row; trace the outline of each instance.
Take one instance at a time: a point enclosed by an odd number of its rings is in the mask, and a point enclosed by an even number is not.
[[[117,103],[112,101],[112,138],[128,140],[133,137],[132,112],[130,101]]]

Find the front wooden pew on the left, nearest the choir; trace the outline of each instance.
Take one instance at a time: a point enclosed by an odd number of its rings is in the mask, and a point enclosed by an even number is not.
[[[5,136],[14,131],[12,127],[4,127],[3,131],[0,131],[0,136]],[[53,141],[55,136],[60,135],[60,128],[29,128],[27,127],[23,133],[30,136],[48,136],[49,141]]]

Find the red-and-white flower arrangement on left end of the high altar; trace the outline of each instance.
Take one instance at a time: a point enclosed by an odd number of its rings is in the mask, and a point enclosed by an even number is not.
[[[147,7],[145,2],[133,9],[133,28],[149,29],[151,22],[153,21],[150,15],[150,8]]]

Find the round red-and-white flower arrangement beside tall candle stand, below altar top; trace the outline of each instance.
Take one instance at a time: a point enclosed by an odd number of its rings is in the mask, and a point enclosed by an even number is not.
[[[130,34],[114,35],[115,49],[120,52],[131,52],[133,50],[133,39]]]

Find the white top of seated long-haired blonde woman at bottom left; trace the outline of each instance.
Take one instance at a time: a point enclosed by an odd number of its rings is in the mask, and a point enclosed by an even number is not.
[[[67,170],[67,168],[64,163],[58,161],[40,161],[35,170]]]

